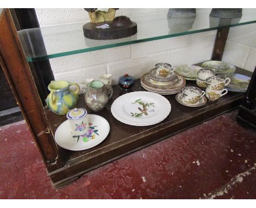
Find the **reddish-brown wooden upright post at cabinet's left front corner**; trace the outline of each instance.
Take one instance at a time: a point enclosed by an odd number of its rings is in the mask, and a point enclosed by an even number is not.
[[[0,16],[0,63],[27,125],[46,163],[56,163],[57,146],[9,9]]]

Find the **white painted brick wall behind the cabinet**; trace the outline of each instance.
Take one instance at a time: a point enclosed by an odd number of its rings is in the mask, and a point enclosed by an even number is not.
[[[117,15],[167,14],[168,9],[119,9]],[[84,9],[36,9],[40,27],[89,22]],[[202,20],[203,21],[203,20]],[[208,20],[207,20],[208,21]],[[196,23],[196,22],[195,22]],[[198,22],[197,22],[198,23]],[[199,22],[200,23],[200,22]],[[253,71],[256,65],[256,24],[230,29],[223,60]],[[101,51],[50,59],[55,79],[84,82],[103,74],[113,75],[113,84],[126,73],[135,78],[152,69],[155,63],[195,64],[211,58],[216,30],[143,42]],[[47,44],[47,43],[46,43]]]

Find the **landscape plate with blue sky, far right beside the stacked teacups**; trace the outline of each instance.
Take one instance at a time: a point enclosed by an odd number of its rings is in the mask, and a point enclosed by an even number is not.
[[[251,80],[251,77],[241,74],[231,74],[227,77],[230,78],[230,83],[226,85],[225,88],[229,91],[236,91],[238,93],[245,92]]]

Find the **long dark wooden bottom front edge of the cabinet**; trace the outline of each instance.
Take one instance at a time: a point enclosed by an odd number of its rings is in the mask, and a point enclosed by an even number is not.
[[[65,186],[68,183],[71,183],[72,181],[78,179],[79,176],[88,173],[91,170],[96,169],[100,166],[103,166],[104,164],[107,164],[114,160],[118,160],[119,158],[129,155],[132,152],[145,148],[146,146],[152,145],[154,143],[160,142],[160,140],[169,138],[174,134],[187,130],[204,121],[210,120],[214,117],[217,117],[218,115],[237,108],[239,105],[241,105],[244,96],[244,94],[240,94],[235,98],[230,99],[230,101],[223,106],[217,106],[215,108],[213,107],[210,111],[196,114],[195,117],[193,117],[193,124],[191,124],[190,120],[183,120],[182,122],[176,121],[175,124],[167,124],[161,127],[161,131],[150,133],[143,138],[133,140],[129,144],[120,145],[119,148],[112,150],[111,154],[109,154],[109,152],[106,152],[101,156],[89,158],[86,161],[78,160],[77,163],[75,163],[75,161],[72,161],[72,164],[66,164],[66,167],[49,173],[49,176],[53,181],[54,187],[60,188],[62,186]]]

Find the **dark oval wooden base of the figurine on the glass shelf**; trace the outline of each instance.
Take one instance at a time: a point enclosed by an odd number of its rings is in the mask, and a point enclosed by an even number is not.
[[[103,25],[109,27],[101,27]],[[113,40],[126,38],[137,33],[137,24],[132,22],[128,26],[113,26],[112,21],[100,23],[87,23],[83,26],[84,36],[95,40]]]

